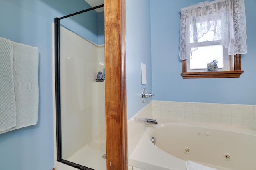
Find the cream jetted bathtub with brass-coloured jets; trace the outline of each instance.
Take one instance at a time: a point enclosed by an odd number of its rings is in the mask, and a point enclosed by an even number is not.
[[[186,170],[186,160],[191,160],[218,170],[256,170],[255,128],[159,120],[157,126],[147,125],[129,165]]]

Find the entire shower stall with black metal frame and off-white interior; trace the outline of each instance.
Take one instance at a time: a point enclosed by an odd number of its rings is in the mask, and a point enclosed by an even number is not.
[[[104,5],[55,18],[57,160],[106,170]]]

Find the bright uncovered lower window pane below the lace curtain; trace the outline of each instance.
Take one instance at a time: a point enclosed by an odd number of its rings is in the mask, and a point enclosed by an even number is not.
[[[207,63],[213,60],[218,61],[219,68],[223,68],[223,46],[216,45],[202,45],[198,46],[196,51],[193,51],[190,59],[190,69],[204,69],[207,68]]]

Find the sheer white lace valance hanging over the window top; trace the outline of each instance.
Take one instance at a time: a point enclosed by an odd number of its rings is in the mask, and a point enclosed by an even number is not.
[[[180,59],[190,59],[198,39],[214,31],[213,41],[228,48],[229,55],[247,53],[244,0],[200,2],[181,9]]]

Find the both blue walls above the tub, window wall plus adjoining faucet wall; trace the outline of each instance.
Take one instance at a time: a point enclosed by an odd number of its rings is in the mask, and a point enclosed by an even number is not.
[[[180,9],[198,2],[202,0],[126,1],[128,120],[144,107],[139,100],[141,61],[152,63],[152,90],[148,92],[155,93],[153,100],[256,105],[255,0],[245,0],[248,53],[242,55],[240,78],[183,79],[180,75]],[[218,94],[213,97],[213,92]]]

